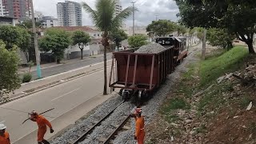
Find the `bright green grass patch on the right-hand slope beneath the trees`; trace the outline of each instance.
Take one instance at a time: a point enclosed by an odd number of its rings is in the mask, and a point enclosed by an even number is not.
[[[200,63],[200,86],[209,86],[211,82],[223,74],[233,72],[244,66],[244,58],[248,56],[248,50],[243,46],[235,46],[222,55],[215,55]]]

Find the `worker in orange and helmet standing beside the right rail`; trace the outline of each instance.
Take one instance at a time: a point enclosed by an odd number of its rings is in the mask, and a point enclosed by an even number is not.
[[[145,131],[144,131],[144,118],[142,117],[142,108],[136,108],[134,114],[131,117],[135,118],[135,134],[134,139],[138,144],[144,143]]]

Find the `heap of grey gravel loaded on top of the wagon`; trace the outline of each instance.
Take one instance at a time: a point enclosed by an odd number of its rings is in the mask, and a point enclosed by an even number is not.
[[[162,50],[166,50],[166,48],[158,43],[150,43],[148,45],[141,46],[138,50],[134,51],[134,53],[158,54]]]

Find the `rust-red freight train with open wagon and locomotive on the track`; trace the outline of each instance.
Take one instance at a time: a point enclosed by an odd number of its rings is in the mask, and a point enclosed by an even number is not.
[[[109,86],[112,90],[120,88],[124,100],[134,94],[138,101],[149,97],[188,54],[186,37],[156,38],[155,42],[165,49],[156,53],[140,53],[138,49],[113,53]],[[153,49],[158,49],[158,44]]]

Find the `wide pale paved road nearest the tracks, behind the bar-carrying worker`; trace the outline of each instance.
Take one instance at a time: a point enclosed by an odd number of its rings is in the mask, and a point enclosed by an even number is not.
[[[110,67],[107,70],[109,73]],[[34,144],[37,143],[36,123],[27,121],[22,125],[22,122],[28,118],[27,112],[36,110],[40,113],[55,108],[46,113],[46,118],[52,122],[56,134],[110,98],[110,95],[102,96],[102,90],[103,70],[99,70],[0,106],[0,122],[4,121],[6,124],[12,143]],[[48,130],[46,138],[50,136],[52,134]]]

